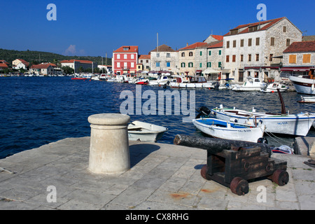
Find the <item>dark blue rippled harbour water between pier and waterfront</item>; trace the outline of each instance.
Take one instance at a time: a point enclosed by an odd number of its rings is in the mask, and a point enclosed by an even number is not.
[[[141,89],[142,92],[153,90],[157,98],[158,90],[166,90],[145,85]],[[88,116],[95,113],[120,113],[120,104],[125,102],[125,99],[120,99],[123,90],[131,90],[136,97],[136,85],[127,83],[71,80],[69,77],[1,77],[0,159],[60,139],[90,136]],[[314,104],[297,103],[300,94],[296,92],[284,92],[282,97],[290,113],[315,112]],[[146,101],[143,100],[142,105]],[[200,106],[211,109],[220,104],[235,106],[237,109],[255,107],[256,111],[281,112],[277,93],[195,90],[196,109]],[[193,123],[182,122],[183,113],[175,116],[173,111],[172,115],[141,114],[130,117],[131,120],[168,127],[160,143],[173,144],[176,134],[201,134]],[[314,129],[308,135],[315,136]],[[293,142],[293,137],[274,139],[267,136],[267,139],[269,144],[275,146]]]

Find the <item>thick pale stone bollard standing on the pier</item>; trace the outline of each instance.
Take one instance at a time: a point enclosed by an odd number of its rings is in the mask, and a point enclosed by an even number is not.
[[[99,113],[87,118],[91,124],[89,170],[96,174],[121,174],[130,169],[127,125],[130,116]]]

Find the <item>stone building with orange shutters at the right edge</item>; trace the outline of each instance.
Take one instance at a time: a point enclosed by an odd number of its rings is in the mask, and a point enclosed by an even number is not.
[[[315,41],[294,42],[283,51],[281,77],[314,76]]]

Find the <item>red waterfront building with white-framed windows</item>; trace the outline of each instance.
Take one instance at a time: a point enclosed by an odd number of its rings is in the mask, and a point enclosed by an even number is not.
[[[136,73],[139,50],[138,46],[124,45],[113,51],[112,66],[116,74]]]

